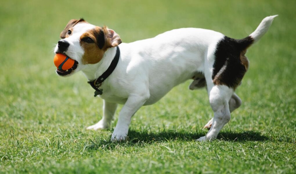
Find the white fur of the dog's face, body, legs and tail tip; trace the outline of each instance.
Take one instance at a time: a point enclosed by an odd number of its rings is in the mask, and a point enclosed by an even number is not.
[[[260,38],[269,27],[273,17],[265,18],[250,36]],[[264,22],[265,21],[265,22]],[[88,23],[78,23],[70,37],[65,52],[79,62],[78,68],[89,80],[98,78],[109,67],[116,53],[116,47],[108,49],[102,60],[94,65],[83,65],[83,49],[80,36],[94,28]],[[131,117],[143,105],[157,102],[174,86],[202,73],[207,82],[210,105],[214,111],[212,125],[206,136],[199,141],[215,139],[219,131],[230,120],[230,112],[240,106],[241,101],[232,88],[215,86],[212,80],[215,50],[223,34],[200,28],[181,28],[167,31],[154,38],[132,43],[122,43],[120,59],[112,74],[102,83],[104,99],[103,118],[88,129],[108,128],[117,104],[124,104],[112,140],[124,140],[128,134]],[[57,51],[57,48],[55,49]],[[89,87],[90,90],[91,87]]]

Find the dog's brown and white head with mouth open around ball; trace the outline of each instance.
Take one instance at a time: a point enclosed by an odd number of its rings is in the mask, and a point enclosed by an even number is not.
[[[75,60],[70,71],[57,69],[57,74],[70,76],[79,70],[87,68],[89,64],[96,64],[102,60],[105,51],[118,46],[121,39],[114,30],[106,26],[91,25],[83,19],[72,19],[60,34],[54,52],[65,54]]]

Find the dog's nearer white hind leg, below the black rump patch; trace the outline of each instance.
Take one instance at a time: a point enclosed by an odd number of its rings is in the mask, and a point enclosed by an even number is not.
[[[213,85],[211,85],[213,86]],[[214,111],[213,123],[206,134],[197,141],[215,139],[223,126],[230,120],[229,100],[233,94],[233,89],[225,85],[208,86],[210,105]]]

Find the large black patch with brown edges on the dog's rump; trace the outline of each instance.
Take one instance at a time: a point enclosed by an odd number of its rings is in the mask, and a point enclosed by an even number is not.
[[[212,74],[215,85],[226,85],[230,88],[236,88],[239,85],[246,73],[246,69],[240,60],[240,54],[253,41],[250,36],[240,40],[224,36],[218,42]]]

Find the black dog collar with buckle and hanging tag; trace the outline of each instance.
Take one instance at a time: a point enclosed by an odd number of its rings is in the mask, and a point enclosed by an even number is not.
[[[89,83],[91,85],[92,88],[94,88],[94,96],[97,95],[102,95],[103,94],[103,89],[100,88],[100,86],[102,85],[103,81],[106,80],[107,77],[109,77],[109,75],[113,72],[113,70],[116,68],[116,65],[118,63],[119,60],[119,56],[120,56],[120,50],[119,47],[116,47],[116,54],[115,57],[113,58],[110,66],[108,67],[108,69],[97,79],[95,80],[89,80],[87,83]]]

